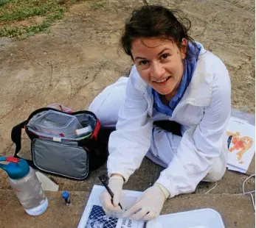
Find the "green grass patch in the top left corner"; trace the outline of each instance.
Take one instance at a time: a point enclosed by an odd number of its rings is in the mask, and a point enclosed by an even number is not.
[[[72,4],[79,0],[0,0],[0,37],[26,38],[46,31],[49,26],[63,18]],[[28,23],[17,26],[18,21],[39,16],[41,24]],[[31,20],[30,20],[31,21]]]

